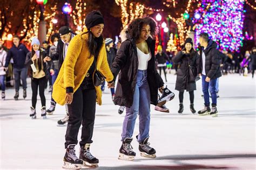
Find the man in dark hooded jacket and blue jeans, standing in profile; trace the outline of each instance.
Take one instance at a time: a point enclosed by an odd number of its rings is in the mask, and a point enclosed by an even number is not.
[[[212,117],[218,116],[217,111],[217,94],[216,83],[217,78],[221,76],[220,71],[220,55],[217,49],[217,43],[209,40],[207,33],[199,35],[200,42],[200,57],[198,74],[202,76],[202,88],[204,93],[205,108],[198,111],[199,115],[210,115]],[[210,108],[210,95],[212,96],[212,110]]]

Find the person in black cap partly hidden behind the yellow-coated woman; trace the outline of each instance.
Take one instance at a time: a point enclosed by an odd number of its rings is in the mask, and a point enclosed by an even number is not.
[[[49,57],[53,59],[53,56],[57,54],[57,45],[58,41],[60,40],[60,36],[58,33],[53,33],[51,36],[51,42],[52,46],[50,47],[50,53]],[[58,73],[59,73],[59,61],[58,60],[50,60],[50,73],[52,76],[52,84],[55,83],[55,80],[57,79]],[[46,110],[47,115],[52,115],[53,111],[55,111],[56,102],[51,97],[51,105],[50,108]]]

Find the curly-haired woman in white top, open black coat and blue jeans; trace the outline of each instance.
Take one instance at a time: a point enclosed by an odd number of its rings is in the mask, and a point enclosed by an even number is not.
[[[122,43],[113,61],[111,71],[118,76],[114,104],[126,107],[123,123],[119,159],[133,160],[136,153],[131,148],[133,130],[139,113],[139,151],[145,157],[156,157],[156,151],[147,143],[150,128],[150,103],[157,105],[158,89],[164,82],[155,67],[154,49],[157,26],[152,18],[134,19],[126,31],[127,39]]]

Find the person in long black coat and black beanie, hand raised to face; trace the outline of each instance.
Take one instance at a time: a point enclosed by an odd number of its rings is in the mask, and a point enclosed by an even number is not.
[[[193,49],[193,41],[191,38],[185,40],[184,48],[172,59],[174,63],[180,63],[175,87],[175,89],[179,91],[179,114],[182,114],[184,110],[183,96],[185,90],[190,94],[190,110],[193,114],[196,113],[196,110],[194,110],[194,90],[197,90],[195,77],[197,76],[198,59],[199,55]],[[190,69],[193,75],[190,74]],[[190,79],[193,80],[190,81]]]

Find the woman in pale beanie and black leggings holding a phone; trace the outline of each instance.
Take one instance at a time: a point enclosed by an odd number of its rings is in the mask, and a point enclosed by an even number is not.
[[[40,49],[40,42],[37,37],[32,39],[31,42],[32,51],[26,54],[25,65],[30,69],[31,77],[31,88],[32,88],[32,106],[30,107],[31,113],[30,117],[36,119],[36,103],[37,103],[37,93],[39,87],[39,96],[41,98],[41,116],[43,119],[46,118],[46,108],[45,108],[45,85],[47,79],[50,75],[47,71],[46,63],[44,58],[46,57],[46,52]]]

